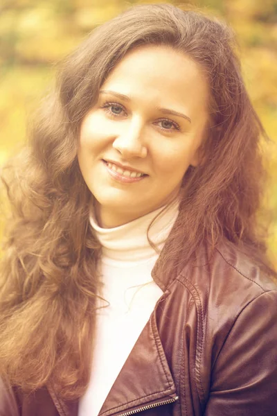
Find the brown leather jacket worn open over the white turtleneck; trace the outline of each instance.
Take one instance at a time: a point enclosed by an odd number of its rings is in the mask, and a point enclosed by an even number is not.
[[[276,286],[229,244],[201,255],[177,276],[154,269],[164,294],[101,416],[277,415]],[[50,385],[26,396],[2,382],[0,415],[78,416],[78,403]]]

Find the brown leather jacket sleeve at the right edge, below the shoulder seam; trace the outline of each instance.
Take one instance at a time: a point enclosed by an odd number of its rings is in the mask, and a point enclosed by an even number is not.
[[[205,416],[277,415],[277,291],[235,320],[213,366]]]

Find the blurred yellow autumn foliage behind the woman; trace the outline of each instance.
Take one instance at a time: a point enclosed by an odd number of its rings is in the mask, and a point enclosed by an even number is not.
[[[28,115],[55,75],[55,64],[95,26],[136,3],[123,0],[1,0],[0,165],[26,139]],[[186,5],[186,1],[168,1]],[[277,0],[189,2],[223,17],[238,37],[247,89],[272,142],[266,207],[273,222],[269,248],[277,267]]]

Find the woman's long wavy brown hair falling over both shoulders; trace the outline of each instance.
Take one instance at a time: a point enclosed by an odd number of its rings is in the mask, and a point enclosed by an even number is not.
[[[1,263],[0,369],[24,391],[52,383],[64,399],[77,399],[87,387],[101,248],[78,166],[80,123],[111,69],[143,44],[183,51],[211,90],[204,158],[184,176],[179,227],[159,261],[175,259],[179,267],[203,242],[213,249],[226,239],[274,272],[257,220],[265,131],[242,80],[233,31],[169,4],[129,8],[64,60],[28,145],[2,173],[11,214]]]

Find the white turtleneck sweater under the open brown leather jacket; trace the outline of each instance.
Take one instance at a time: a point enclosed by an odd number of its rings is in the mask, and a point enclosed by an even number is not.
[[[150,246],[147,229],[162,208],[115,228],[90,223],[102,245],[102,291],[98,300],[96,340],[89,387],[80,399],[78,416],[97,416],[154,306],[163,294],[151,276],[159,254]],[[171,205],[150,227],[159,250],[172,229],[179,204]]]

